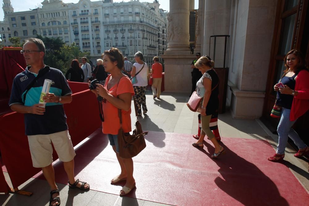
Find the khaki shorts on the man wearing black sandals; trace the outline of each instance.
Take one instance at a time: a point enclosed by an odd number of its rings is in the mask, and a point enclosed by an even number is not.
[[[33,167],[46,167],[53,162],[53,147],[62,162],[70,162],[75,157],[69,131],[46,135],[29,135],[29,148]]]

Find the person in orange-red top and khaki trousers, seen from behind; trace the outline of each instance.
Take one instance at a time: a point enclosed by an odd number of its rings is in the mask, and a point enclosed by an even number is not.
[[[160,99],[163,67],[162,64],[159,63],[159,57],[154,57],[153,61],[155,63],[152,65],[150,71],[153,78],[151,89],[154,99]]]

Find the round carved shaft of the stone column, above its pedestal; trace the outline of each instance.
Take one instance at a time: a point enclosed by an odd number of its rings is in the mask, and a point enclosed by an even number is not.
[[[190,54],[189,1],[170,0],[167,20],[168,47],[165,54]]]

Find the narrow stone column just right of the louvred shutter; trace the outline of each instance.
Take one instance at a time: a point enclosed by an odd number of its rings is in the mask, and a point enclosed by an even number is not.
[[[203,41],[203,36],[204,36],[204,12],[205,12],[205,0],[199,0],[198,1],[198,10],[197,10],[197,24],[196,24],[196,46],[194,49],[194,53],[200,52],[202,53],[202,41]],[[204,54],[202,54],[204,55]]]

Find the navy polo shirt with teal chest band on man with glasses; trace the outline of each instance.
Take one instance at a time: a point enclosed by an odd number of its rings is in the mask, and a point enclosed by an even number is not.
[[[54,93],[56,96],[72,94],[62,72],[58,69],[49,68],[49,71],[38,78],[32,88],[29,89],[25,102],[23,102],[24,90],[36,77],[36,74],[29,71],[30,68],[28,66],[25,71],[17,74],[14,78],[9,106],[13,104],[23,104],[25,106],[38,104],[45,79],[54,82],[49,89],[49,93]],[[53,134],[68,129],[66,114],[61,103],[46,103],[44,115],[25,114],[24,117],[26,135]]]

